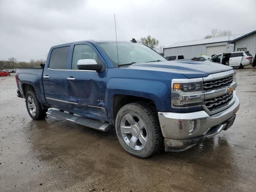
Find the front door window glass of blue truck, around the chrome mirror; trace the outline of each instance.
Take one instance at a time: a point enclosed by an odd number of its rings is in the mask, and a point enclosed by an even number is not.
[[[72,58],[72,69],[77,70],[77,62],[81,59],[94,59],[99,64],[102,62],[96,52],[88,45],[75,45],[73,58]]]

